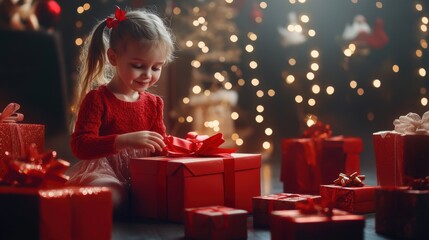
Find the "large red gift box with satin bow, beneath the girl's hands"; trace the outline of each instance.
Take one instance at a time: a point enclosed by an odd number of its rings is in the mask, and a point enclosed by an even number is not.
[[[189,171],[184,176],[181,176],[185,177],[185,179],[188,179],[191,175],[197,177],[220,174],[222,176],[222,180],[218,180],[216,177],[215,182],[210,183],[216,186],[221,184],[223,189],[222,194],[217,194],[212,200],[204,200],[204,198],[200,196],[198,197],[200,198],[199,201],[197,201],[198,198],[189,200],[191,196],[187,196],[186,199],[188,200],[185,202],[192,204],[187,207],[216,204],[233,206],[245,210],[249,209],[249,212],[251,211],[251,198],[260,195],[261,155],[231,154],[231,150],[218,148],[216,146],[222,142],[221,135],[219,134],[209,138],[193,136],[194,138],[187,139],[168,136],[166,138],[168,146],[166,149],[167,156],[145,157],[130,160],[132,208],[137,216],[156,219],[170,218],[168,214],[173,214],[170,212],[170,209],[167,211],[167,209],[170,208],[170,203],[168,203],[170,197],[167,199],[167,196],[170,196],[170,191],[173,191],[177,196],[185,194],[179,193],[178,191],[191,191],[191,185],[182,184],[180,190],[174,189],[175,187],[172,188],[169,185],[173,184],[176,186],[176,184],[182,182],[179,178],[173,177],[173,175],[176,175],[180,171],[168,170],[170,168],[175,168],[171,166],[177,167],[177,161],[185,166],[183,168],[180,167],[180,169]],[[190,164],[190,167],[186,166],[187,163]],[[212,165],[216,167],[211,167]],[[212,172],[210,172],[210,169]],[[172,179],[176,179],[177,182],[175,183],[174,181],[176,180],[173,181]],[[187,182],[188,180],[186,183]],[[191,182],[190,179],[189,182]],[[196,191],[199,191],[196,186],[194,187]],[[198,195],[192,192],[186,194]],[[203,195],[206,196],[207,194]],[[210,196],[211,194],[207,195],[208,198]],[[224,197],[222,201],[216,200],[221,196],[222,198]],[[176,219],[176,221],[182,221],[178,219],[182,219],[179,215],[182,215],[180,212],[183,211],[184,206],[181,206],[179,202],[171,204],[178,206],[178,208],[176,208],[176,213],[173,214],[176,217],[173,218]],[[182,209],[180,210],[180,208]]]

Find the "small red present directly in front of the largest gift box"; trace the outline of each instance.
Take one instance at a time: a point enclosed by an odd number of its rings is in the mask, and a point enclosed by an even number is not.
[[[246,239],[246,210],[225,206],[185,209],[185,237],[190,239]]]

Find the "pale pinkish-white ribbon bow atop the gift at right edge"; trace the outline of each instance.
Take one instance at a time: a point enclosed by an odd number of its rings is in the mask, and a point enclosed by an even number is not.
[[[429,135],[429,111],[423,116],[416,113],[408,113],[393,121],[395,131],[402,134],[426,134]]]

